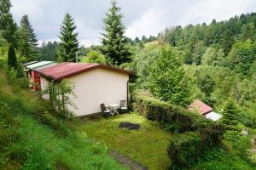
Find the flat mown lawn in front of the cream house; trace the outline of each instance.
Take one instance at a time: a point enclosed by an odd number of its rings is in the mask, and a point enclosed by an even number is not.
[[[139,123],[139,130],[120,129],[120,122]],[[85,120],[79,127],[91,138],[104,142],[110,149],[129,156],[149,169],[166,169],[170,160],[166,153],[170,133],[160,129],[155,122],[148,121],[144,116],[124,114],[108,119]]]

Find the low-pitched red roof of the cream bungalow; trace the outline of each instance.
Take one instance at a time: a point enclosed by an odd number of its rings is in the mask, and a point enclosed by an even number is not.
[[[94,64],[94,63],[60,63],[38,70],[38,73],[43,77],[49,77],[54,80],[61,80],[63,78],[72,77],[84,71],[90,71],[95,68],[105,68],[108,70],[119,71],[125,74],[132,74],[131,71],[114,68],[108,65]]]

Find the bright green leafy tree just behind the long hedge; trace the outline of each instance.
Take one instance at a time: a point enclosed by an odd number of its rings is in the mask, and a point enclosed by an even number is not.
[[[183,70],[183,54],[163,48],[149,69],[148,88],[152,94],[175,105],[189,105],[190,82]]]

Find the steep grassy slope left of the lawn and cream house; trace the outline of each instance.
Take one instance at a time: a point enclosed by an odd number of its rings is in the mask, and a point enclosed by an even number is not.
[[[38,95],[10,87],[0,75],[0,169],[125,169],[105,145],[47,112]]]

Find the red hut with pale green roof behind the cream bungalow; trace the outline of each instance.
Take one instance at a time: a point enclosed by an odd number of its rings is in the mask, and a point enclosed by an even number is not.
[[[32,64],[26,65],[26,73],[30,80],[30,88],[32,90],[39,90],[40,89],[40,77],[38,75],[37,70],[48,67],[50,65],[55,65],[54,61],[41,61],[35,62],[33,61]]]

